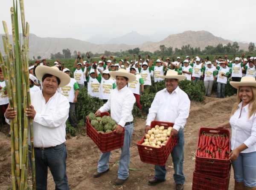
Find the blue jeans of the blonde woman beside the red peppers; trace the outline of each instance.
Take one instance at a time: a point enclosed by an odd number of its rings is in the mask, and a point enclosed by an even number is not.
[[[232,161],[234,178],[237,182],[244,182],[247,187],[256,187],[256,152],[239,153]]]

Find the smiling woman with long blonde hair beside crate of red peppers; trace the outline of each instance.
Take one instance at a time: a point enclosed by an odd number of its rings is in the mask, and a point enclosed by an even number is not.
[[[256,190],[256,81],[245,76],[230,84],[237,89],[237,102],[230,121],[218,128],[232,130],[230,160],[235,190]]]

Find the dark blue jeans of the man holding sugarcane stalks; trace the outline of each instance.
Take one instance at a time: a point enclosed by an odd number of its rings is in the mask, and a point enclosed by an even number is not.
[[[64,143],[45,150],[35,148],[36,190],[47,190],[48,167],[55,182],[55,190],[69,190],[66,158],[67,150]]]

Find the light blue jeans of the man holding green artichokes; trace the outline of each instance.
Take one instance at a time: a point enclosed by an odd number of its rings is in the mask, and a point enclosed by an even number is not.
[[[122,153],[119,160],[118,176],[119,179],[126,179],[129,176],[130,167],[130,146],[131,137],[134,130],[134,124],[125,126],[124,145],[121,148]],[[98,161],[98,172],[102,173],[109,169],[110,152],[102,153]]]

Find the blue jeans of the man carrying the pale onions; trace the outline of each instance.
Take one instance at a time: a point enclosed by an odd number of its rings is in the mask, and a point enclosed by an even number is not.
[[[176,184],[184,184],[185,176],[183,174],[183,161],[184,161],[184,129],[178,132],[177,145],[172,150],[172,161],[174,166],[173,178]],[[166,178],[166,167],[155,165],[155,178]]]

